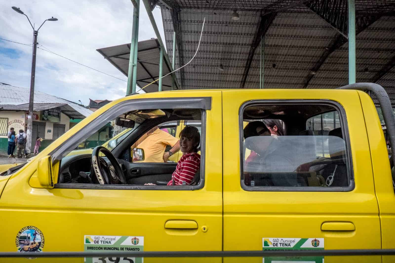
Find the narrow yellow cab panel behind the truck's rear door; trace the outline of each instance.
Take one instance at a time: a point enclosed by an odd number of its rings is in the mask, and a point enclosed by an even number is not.
[[[369,145],[373,164],[374,188],[380,210],[382,249],[393,248],[395,244],[395,188],[391,177],[386,140],[381,129],[380,119],[371,98],[362,91],[363,115],[369,136]],[[383,262],[394,262],[395,256],[383,256]]]

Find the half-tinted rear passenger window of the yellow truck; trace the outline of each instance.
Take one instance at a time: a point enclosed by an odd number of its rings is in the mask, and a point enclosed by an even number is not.
[[[245,190],[352,187],[347,129],[336,103],[247,104],[242,121]]]

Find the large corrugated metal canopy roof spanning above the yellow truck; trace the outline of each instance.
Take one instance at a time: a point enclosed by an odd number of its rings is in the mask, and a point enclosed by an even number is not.
[[[153,1],[153,0],[152,0]],[[160,0],[167,53],[182,89],[337,88],[348,84],[347,0]],[[356,80],[386,88],[395,104],[395,1],[355,0]],[[237,9],[239,20],[232,20]],[[171,58],[170,58],[171,59]],[[219,69],[222,64],[224,70]]]

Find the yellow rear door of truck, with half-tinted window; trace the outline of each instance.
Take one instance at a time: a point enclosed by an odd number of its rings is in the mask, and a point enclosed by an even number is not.
[[[374,194],[369,142],[357,91],[231,90],[222,91],[222,95],[224,250],[381,248],[380,220]],[[332,128],[325,126],[330,126],[330,123],[325,122],[323,125],[323,122],[320,122],[320,118],[324,121],[327,118],[325,105],[336,109],[328,113],[333,114],[332,122],[337,124]],[[306,118],[308,118],[314,111],[322,114],[316,115],[310,122],[308,120],[305,120],[305,123],[298,122],[298,119],[303,120],[303,114],[307,114]],[[337,118],[335,118],[336,114],[338,114]],[[309,164],[309,168],[304,172],[305,168],[302,165],[294,166],[291,170],[281,170],[283,165],[281,159],[276,158],[271,159],[277,168],[276,173],[246,174],[243,171],[246,159],[243,152],[248,138],[246,140],[243,138],[243,121],[247,119],[247,121],[261,121],[273,116],[284,119],[288,133],[285,136],[258,136],[258,138],[266,140],[275,137],[271,143],[279,143],[289,137],[294,138],[290,143],[295,145],[312,138],[315,144],[314,151],[317,151],[317,156],[314,156],[312,162],[315,161],[314,159],[333,162],[332,169],[335,171],[326,175],[318,169],[312,172],[313,165],[318,164]],[[312,127],[307,127],[308,123]],[[334,128],[342,133],[343,139],[333,135],[337,130]],[[329,139],[324,140],[325,136]],[[319,138],[322,140],[319,141]],[[346,187],[334,187],[340,164],[335,162],[333,153],[332,156],[323,150],[325,147],[328,148],[328,140],[329,145],[332,145],[331,138],[340,139],[344,144],[342,155],[346,157],[342,157],[341,160],[347,159],[344,161],[346,164],[343,163],[348,169],[349,184]],[[301,147],[298,150],[303,152],[303,149]],[[287,155],[289,151],[294,151],[294,147],[286,148],[283,154]],[[291,155],[290,158],[299,158],[297,155]],[[257,169],[261,169],[262,166],[264,169],[273,166],[273,163],[265,163],[266,157],[270,156],[265,153],[260,155],[258,164],[261,167]],[[321,165],[325,166],[325,169],[328,167],[328,164]],[[253,178],[248,185],[245,181],[247,175]],[[258,178],[258,175],[261,177]],[[285,181],[291,177],[295,179],[293,184],[275,183],[279,178]],[[393,242],[389,243],[393,244]],[[265,258],[264,262],[292,260],[323,262],[322,257]],[[224,261],[229,262],[232,259]],[[325,262],[346,261],[381,262],[381,256],[345,259],[325,257]],[[262,262],[262,259],[255,258],[254,262]]]

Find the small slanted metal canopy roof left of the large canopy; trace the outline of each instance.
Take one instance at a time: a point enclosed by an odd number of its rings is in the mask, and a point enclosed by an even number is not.
[[[125,76],[128,76],[130,43],[114,47],[99,48],[97,51]],[[141,88],[159,77],[160,45],[157,39],[139,41],[137,53],[137,85]],[[170,72],[169,65],[163,60],[163,76]],[[171,75],[162,78],[162,90],[171,90]],[[144,90],[158,91],[158,81]]]

